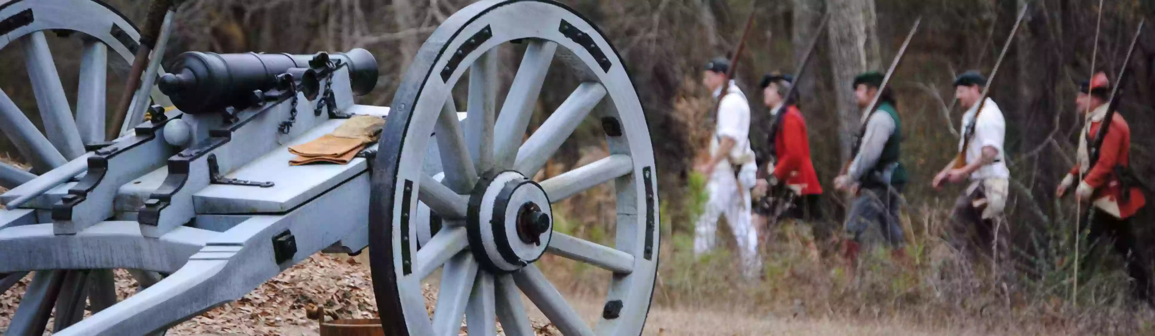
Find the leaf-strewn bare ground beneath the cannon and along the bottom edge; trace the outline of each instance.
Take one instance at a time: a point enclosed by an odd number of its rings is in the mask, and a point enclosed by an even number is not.
[[[177,326],[170,335],[236,336],[278,335],[318,336],[315,321],[304,319],[301,303],[291,297],[312,297],[341,308],[346,318],[368,318],[375,312],[371,301],[367,266],[349,257],[316,255],[266,283],[246,298],[218,307]],[[7,328],[25,282],[0,293],[0,335]],[[118,271],[118,292],[127,297],[134,289],[127,274]],[[435,284],[432,285],[435,288]],[[602,309],[602,298],[589,294],[566,294],[574,308],[590,323]],[[523,297],[530,319],[549,321]],[[783,311],[789,311],[789,307]],[[218,330],[223,330],[218,331]],[[543,335],[554,334],[543,330]],[[718,308],[676,308],[654,306],[642,335],[989,335],[971,330],[925,330],[910,323],[893,321],[847,321],[792,315],[754,315]]]

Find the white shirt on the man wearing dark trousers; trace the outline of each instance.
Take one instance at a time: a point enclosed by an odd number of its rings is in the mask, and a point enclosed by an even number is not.
[[[967,136],[967,128],[970,127],[971,122],[975,122],[975,111],[977,107],[971,107],[962,115],[962,132],[959,133],[962,134],[959,137],[960,151]],[[1006,139],[1006,121],[1003,119],[1003,111],[999,110],[999,105],[994,104],[993,99],[986,98],[986,103],[983,104],[983,113],[978,114],[978,124],[975,125],[975,134],[970,140],[970,145],[967,148],[967,163],[973,163],[982,158],[984,147],[993,147],[999,154],[994,157],[994,163],[984,165],[971,173],[971,180],[1011,178],[1011,170],[1007,169],[1006,159],[1004,159],[1006,151],[1003,149],[1003,142]]]

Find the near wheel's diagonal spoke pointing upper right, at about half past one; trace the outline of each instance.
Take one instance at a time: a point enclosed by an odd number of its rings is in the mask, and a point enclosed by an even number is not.
[[[517,160],[514,170],[523,176],[532,177],[545,165],[545,162],[553,156],[553,152],[561,147],[561,143],[578,129],[589,111],[597,106],[598,102],[605,97],[605,87],[601,83],[582,83],[569,94],[561,106],[550,115],[542,127],[534,132],[534,135],[517,150]]]

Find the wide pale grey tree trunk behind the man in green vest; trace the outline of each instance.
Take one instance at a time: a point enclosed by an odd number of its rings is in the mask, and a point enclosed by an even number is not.
[[[872,0],[867,0],[873,2]],[[842,159],[850,158],[854,135],[858,132],[862,111],[855,99],[850,83],[867,69],[866,62],[866,15],[863,0],[830,0],[830,23],[827,37],[830,42],[830,68],[834,73],[834,91],[839,109],[839,141]],[[872,15],[873,16],[873,15]]]

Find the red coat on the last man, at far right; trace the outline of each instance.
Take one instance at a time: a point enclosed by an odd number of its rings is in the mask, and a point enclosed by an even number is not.
[[[1085,134],[1086,139],[1095,139],[1100,126],[1103,124],[1106,109],[1096,110],[1102,111],[1096,111],[1097,113],[1094,113],[1088,120],[1090,127],[1087,134]],[[1123,119],[1123,115],[1116,113],[1111,118],[1111,127],[1108,129],[1106,136],[1103,139],[1103,145],[1098,152],[1098,160],[1095,163],[1095,166],[1090,171],[1083,172],[1080,188],[1089,187],[1094,189],[1091,200],[1096,208],[1118,218],[1133,216],[1135,211],[1146,204],[1147,200],[1139,187],[1132,187],[1130,191],[1126,191],[1131,193],[1128,202],[1124,203],[1119,197],[1124,191],[1119,185],[1119,177],[1116,176],[1113,167],[1116,165],[1126,167],[1131,164],[1131,128],[1127,126],[1127,121]],[[1086,145],[1080,147],[1079,156],[1081,158],[1087,157]],[[1080,165],[1076,163],[1071,169],[1071,174],[1078,177],[1080,170]]]

